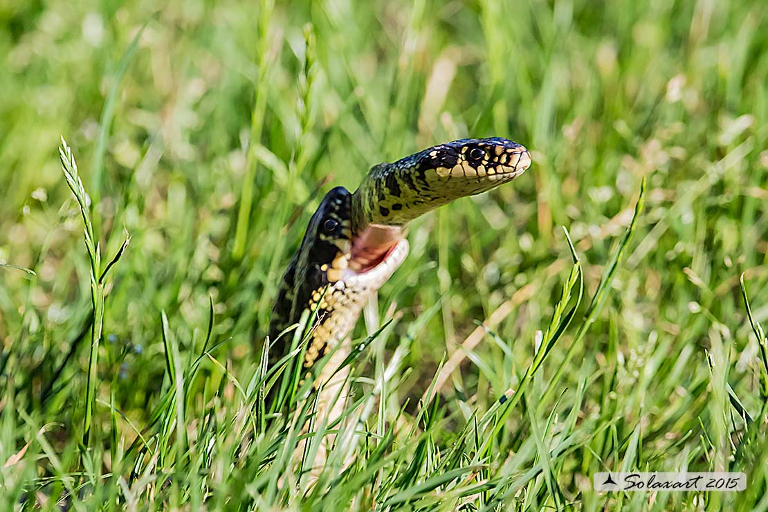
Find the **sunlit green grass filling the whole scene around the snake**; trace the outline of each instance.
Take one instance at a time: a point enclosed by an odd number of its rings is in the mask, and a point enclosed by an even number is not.
[[[154,9],[0,5],[0,510],[768,510],[765,2]],[[349,421],[270,421],[322,193],[492,135],[534,165],[412,223]],[[748,488],[591,488],[683,469]]]

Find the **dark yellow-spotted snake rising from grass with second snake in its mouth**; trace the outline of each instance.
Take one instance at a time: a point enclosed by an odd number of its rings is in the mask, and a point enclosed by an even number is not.
[[[270,364],[290,349],[293,336],[285,335],[286,329],[310,310],[316,320],[300,364],[309,375],[316,362],[332,354],[315,376],[316,386],[327,384],[349,355],[349,334],[362,307],[408,256],[408,224],[439,206],[508,183],[530,165],[531,154],[512,140],[459,139],[372,167],[354,193],[329,190],[280,280],[268,329]],[[328,389],[338,391],[339,385]],[[326,407],[333,401],[338,397],[323,400]]]

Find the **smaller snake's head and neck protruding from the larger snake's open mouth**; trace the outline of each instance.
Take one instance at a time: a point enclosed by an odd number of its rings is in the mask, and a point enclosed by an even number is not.
[[[370,170],[353,199],[354,225],[402,226],[458,197],[513,180],[530,166],[528,150],[502,137],[429,147]]]

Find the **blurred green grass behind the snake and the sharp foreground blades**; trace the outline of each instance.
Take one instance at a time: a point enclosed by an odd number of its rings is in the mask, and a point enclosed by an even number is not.
[[[90,267],[60,135],[104,258],[131,236],[108,286],[97,397],[138,428],[168,385],[161,312],[186,359],[212,298],[217,360],[247,382],[326,190],[354,190],[372,165],[445,140],[502,136],[531,150],[531,169],[413,223],[409,259],[379,295],[382,316],[399,317],[385,358],[427,322],[394,400],[415,407],[444,354],[493,312],[496,337],[442,392],[451,409],[485,410],[515,388],[570,266],[561,226],[589,297],[646,177],[630,253],[548,408],[608,421],[619,441],[642,425],[638,467],[730,453],[743,425],[718,415],[730,409],[713,375],[764,421],[739,276],[768,322],[766,14],[766,2],[710,0],[0,1],[0,263],[35,272],[0,268],[0,408],[19,415],[5,419],[0,464],[42,424],[61,424],[47,434],[60,450],[81,435]],[[223,379],[208,366],[195,389]],[[188,415],[207,406],[202,393]],[[108,432],[109,408],[96,415]],[[529,421],[513,415],[502,447]],[[590,443],[558,475],[574,500],[598,467],[586,454],[602,444]]]

